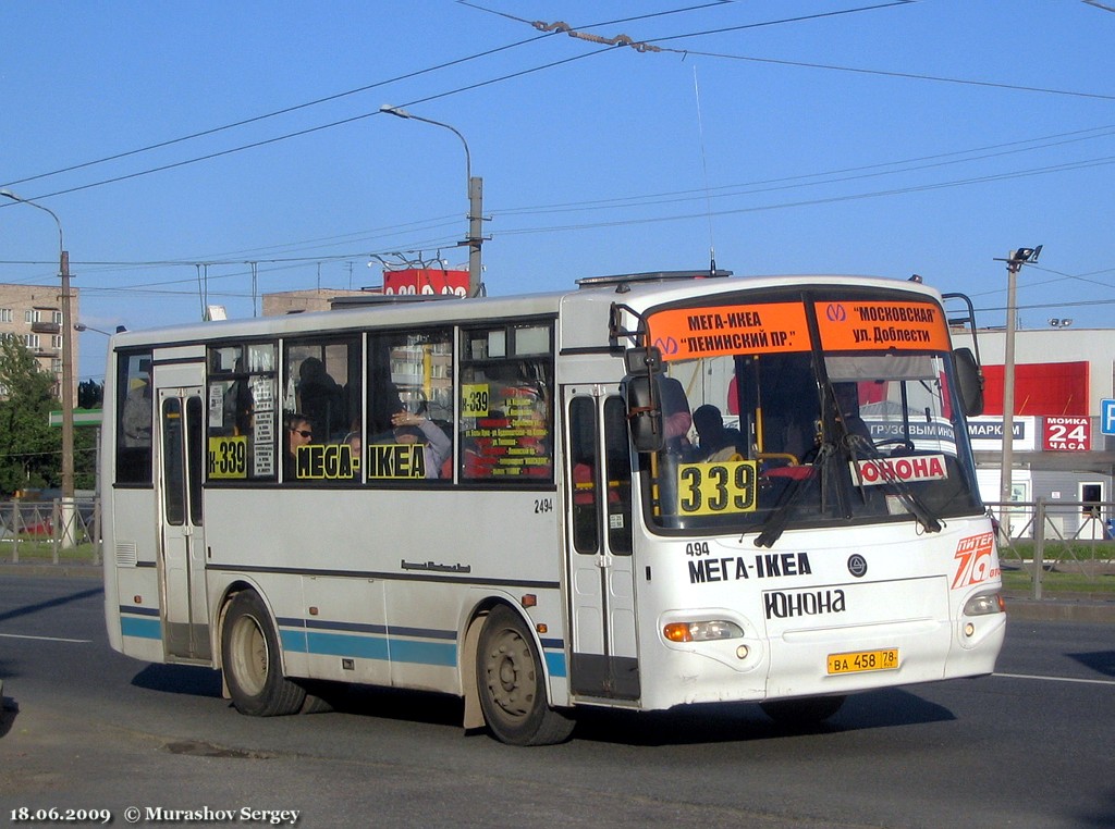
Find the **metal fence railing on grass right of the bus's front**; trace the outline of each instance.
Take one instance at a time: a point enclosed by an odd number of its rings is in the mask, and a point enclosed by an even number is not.
[[[1040,599],[1049,573],[1082,577],[1098,586],[1115,573],[1115,501],[990,501],[997,521],[999,560],[1030,576],[1034,598]]]

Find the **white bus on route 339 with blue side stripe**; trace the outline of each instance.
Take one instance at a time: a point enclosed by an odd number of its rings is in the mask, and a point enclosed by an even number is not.
[[[248,714],[456,694],[514,744],[990,673],[982,392],[941,295],[720,276],[114,335],[113,646],[221,670]]]

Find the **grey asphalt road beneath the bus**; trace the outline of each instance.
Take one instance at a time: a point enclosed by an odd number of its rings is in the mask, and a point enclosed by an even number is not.
[[[241,716],[215,672],[112,652],[103,602],[96,582],[0,572],[9,823],[1115,825],[1113,625],[1012,621],[996,675],[862,694],[805,732],[754,705],[590,712],[569,743],[515,749],[465,737],[459,702],[432,694]]]

